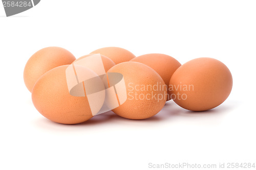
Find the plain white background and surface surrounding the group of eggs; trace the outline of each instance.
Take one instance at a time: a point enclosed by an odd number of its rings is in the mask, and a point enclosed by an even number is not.
[[[152,169],[148,163],[256,163],[256,1],[42,0],[5,17],[0,7],[0,169]],[[219,107],[190,112],[168,102],[156,116],[112,112],[60,125],[34,108],[23,81],[30,56],[61,46],[77,58],[119,46],[136,56],[164,53],[182,64],[225,63],[233,76]],[[218,166],[217,166],[218,167]]]

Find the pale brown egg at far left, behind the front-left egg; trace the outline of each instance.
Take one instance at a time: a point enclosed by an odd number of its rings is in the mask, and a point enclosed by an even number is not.
[[[24,82],[31,92],[35,82],[50,69],[71,64],[75,57],[68,50],[51,46],[42,48],[33,54],[24,69]]]

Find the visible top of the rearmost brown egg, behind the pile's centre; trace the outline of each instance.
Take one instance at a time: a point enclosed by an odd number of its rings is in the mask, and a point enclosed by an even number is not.
[[[91,54],[98,53],[110,58],[112,61],[114,61],[115,64],[130,61],[135,58],[135,55],[133,53],[120,47],[99,48],[98,50],[93,51]]]

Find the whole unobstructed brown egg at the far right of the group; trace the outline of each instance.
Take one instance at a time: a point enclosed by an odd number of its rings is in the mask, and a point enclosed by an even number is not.
[[[204,111],[222,104],[232,89],[232,76],[222,62],[197,58],[180,66],[169,82],[170,97],[179,106]]]

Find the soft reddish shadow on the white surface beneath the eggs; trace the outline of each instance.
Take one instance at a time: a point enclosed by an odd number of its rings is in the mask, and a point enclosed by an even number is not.
[[[55,122],[52,122],[51,120],[48,120],[47,118],[41,116],[40,118],[36,119],[33,124],[40,128],[40,129],[46,129],[46,130],[61,130],[61,131],[73,131],[77,129],[81,130],[87,130],[89,127],[101,127],[104,126],[114,126],[114,127],[131,127],[131,126],[159,126],[163,123],[175,123],[176,119],[179,119],[177,121],[183,120],[189,120],[191,117],[193,119],[204,119],[207,120],[209,117],[215,117],[214,119],[219,119],[219,116],[224,116],[225,113],[233,110],[237,105],[237,102],[230,102],[225,105],[220,105],[217,108],[208,110],[208,111],[201,111],[201,112],[194,112],[189,111],[186,109],[183,109],[176,105],[173,101],[169,101],[165,104],[163,109],[156,114],[155,116],[143,120],[132,120],[132,119],[126,119],[123,117],[118,116],[112,111],[108,111],[103,114],[96,115],[92,117],[91,119],[87,120],[86,122],[83,122],[81,124],[75,124],[75,125],[63,125],[58,124]]]

